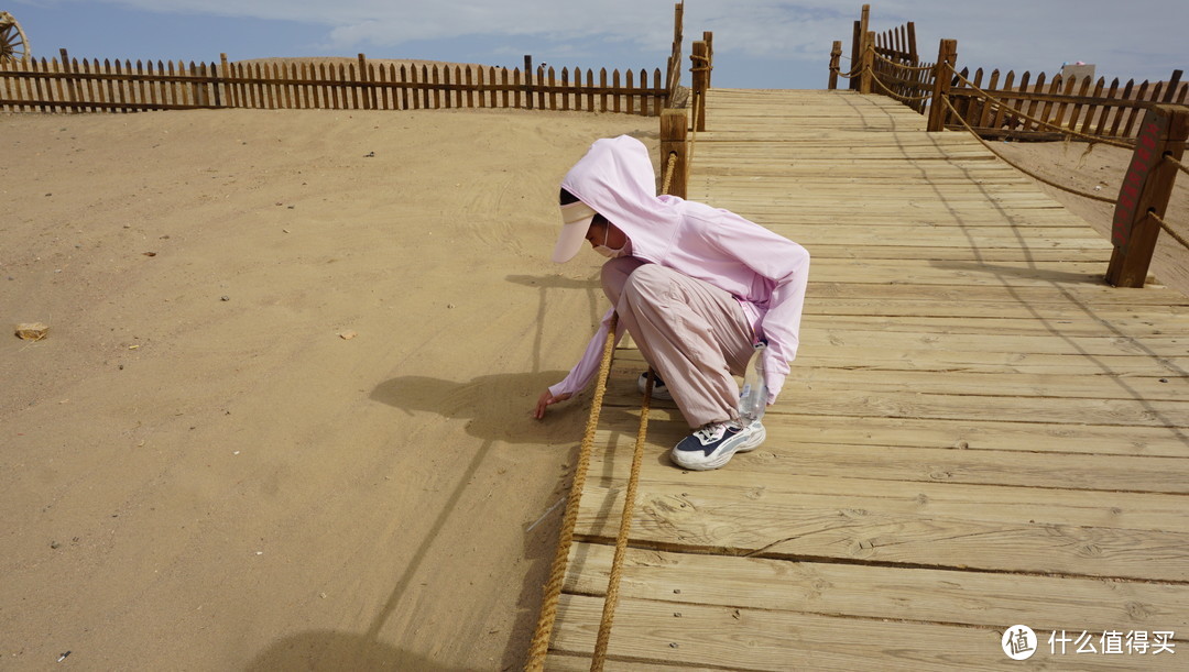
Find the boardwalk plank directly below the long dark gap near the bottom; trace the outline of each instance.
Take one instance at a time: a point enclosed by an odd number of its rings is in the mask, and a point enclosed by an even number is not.
[[[603,597],[614,547],[575,544],[564,590]],[[705,581],[703,577],[713,577]],[[1189,626],[1189,587],[1075,577],[791,562],[629,549],[621,595],[629,600],[799,611],[824,616],[1034,630],[1169,629]]]

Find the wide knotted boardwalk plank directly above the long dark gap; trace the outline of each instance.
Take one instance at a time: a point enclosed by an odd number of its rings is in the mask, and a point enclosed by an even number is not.
[[[640,484],[633,546],[1185,582],[1181,495],[769,476],[724,469]],[[594,470],[598,473],[598,469]],[[740,476],[746,476],[741,480]],[[691,481],[691,477],[697,477]],[[856,490],[872,494],[856,494]],[[589,482],[575,534],[614,540],[622,488]],[[610,513],[609,513],[610,512]]]

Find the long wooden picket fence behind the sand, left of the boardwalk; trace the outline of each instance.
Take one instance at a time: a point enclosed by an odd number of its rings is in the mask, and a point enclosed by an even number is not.
[[[677,47],[680,49],[679,46]],[[669,75],[677,80],[678,75]],[[672,81],[671,85],[674,85]],[[660,115],[661,71],[328,59],[262,63],[0,61],[0,110],[528,108]]]

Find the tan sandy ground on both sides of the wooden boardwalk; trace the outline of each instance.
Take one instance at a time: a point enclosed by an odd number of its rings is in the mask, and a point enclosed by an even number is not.
[[[548,261],[558,182],[656,120],[0,128],[0,319],[49,325],[0,338],[0,668],[520,668],[589,397],[529,411],[604,305]]]

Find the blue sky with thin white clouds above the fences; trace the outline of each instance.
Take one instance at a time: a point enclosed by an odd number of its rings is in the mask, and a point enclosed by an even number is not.
[[[958,40],[958,64],[1055,72],[1084,61],[1097,74],[1164,80],[1189,68],[1189,0],[917,0],[872,2],[872,26],[914,21],[936,59]],[[33,55],[146,61],[295,56],[661,68],[673,38],[669,0],[7,0]],[[826,85],[830,45],[849,55],[862,2],[688,0],[686,51],[715,33],[713,85]],[[686,68],[688,61],[686,61]],[[844,63],[844,68],[847,64]],[[688,72],[682,76],[688,83]]]

